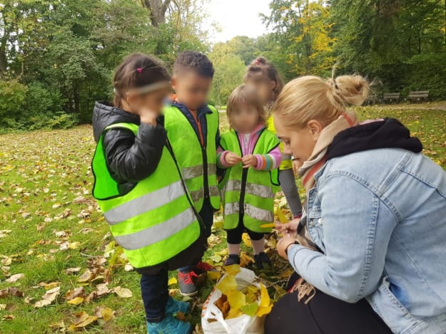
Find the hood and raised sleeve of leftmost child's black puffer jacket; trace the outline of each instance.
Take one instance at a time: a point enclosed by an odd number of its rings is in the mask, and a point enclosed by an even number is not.
[[[136,182],[155,171],[166,145],[167,134],[163,118],[158,118],[156,126],[140,123],[138,115],[100,101],[95,103],[93,109],[94,140],[98,142],[108,125],[119,122],[139,125],[136,137],[127,129],[112,129],[103,135],[108,170],[118,182],[120,191],[126,193]]]

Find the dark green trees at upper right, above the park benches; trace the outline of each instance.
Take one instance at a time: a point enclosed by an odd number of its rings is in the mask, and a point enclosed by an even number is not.
[[[445,1],[332,0],[335,56],[345,72],[382,90],[430,90],[446,98]]]

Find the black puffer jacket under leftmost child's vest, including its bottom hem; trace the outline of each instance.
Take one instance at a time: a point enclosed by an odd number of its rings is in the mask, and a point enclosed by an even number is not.
[[[108,130],[103,136],[108,170],[118,182],[121,194],[126,194],[138,181],[155,172],[167,144],[167,132],[163,117],[158,118],[158,125],[141,123],[138,115],[115,108],[111,103],[96,102],[93,110],[93,136],[98,142],[103,130],[119,122],[139,125],[138,133],[126,129]],[[193,204],[191,203],[191,207]],[[197,217],[198,214],[196,213]],[[198,217],[200,220],[200,218]],[[200,220],[201,221],[201,220]],[[138,273],[156,274],[161,270],[175,270],[181,266],[195,265],[206,251],[206,236],[201,222],[201,235],[184,251],[164,263],[146,268],[136,268]]]

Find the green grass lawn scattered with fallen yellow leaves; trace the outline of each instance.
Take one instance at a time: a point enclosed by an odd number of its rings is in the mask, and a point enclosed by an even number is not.
[[[446,103],[380,105],[358,108],[358,113],[361,119],[399,118],[420,137],[425,154],[446,169]],[[227,127],[224,113],[221,118]],[[82,328],[86,333],[145,333],[138,274],[126,271],[90,196],[94,146],[90,126],[0,136],[0,333],[64,331],[76,314],[85,323],[94,320],[87,315],[102,317]],[[225,255],[220,229],[210,242],[206,258],[219,265]],[[278,273],[261,276],[280,286],[288,274],[280,276],[283,271],[289,267],[278,262]],[[10,278],[19,273],[23,276]],[[121,289],[104,292],[104,281],[108,289]],[[193,325],[212,286],[208,281],[191,300]],[[178,286],[173,282],[170,287],[178,296]],[[79,298],[69,303],[76,288]],[[35,307],[45,294],[49,305]]]

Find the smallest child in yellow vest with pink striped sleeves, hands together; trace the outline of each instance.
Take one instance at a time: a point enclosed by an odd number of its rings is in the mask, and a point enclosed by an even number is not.
[[[274,221],[279,140],[265,127],[268,112],[250,86],[235,88],[226,113],[230,130],[221,135],[217,160],[218,166],[226,169],[219,184],[223,228],[228,236],[225,266],[240,263],[240,243],[246,231],[253,244],[255,266],[263,269],[271,265],[264,251],[264,234],[270,233]]]

